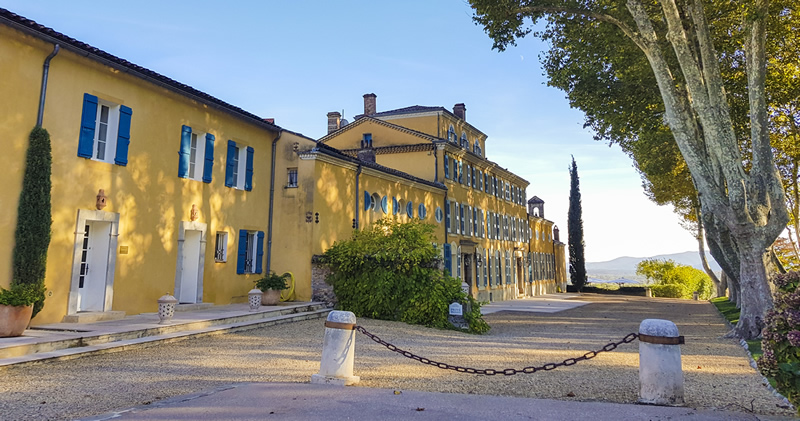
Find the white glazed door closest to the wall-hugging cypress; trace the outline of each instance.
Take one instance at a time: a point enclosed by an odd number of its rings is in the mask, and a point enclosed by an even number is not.
[[[78,311],[105,311],[111,223],[87,221],[81,244]]]

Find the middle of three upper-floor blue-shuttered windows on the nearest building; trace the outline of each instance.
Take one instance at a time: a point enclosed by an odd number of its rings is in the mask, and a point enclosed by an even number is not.
[[[211,182],[214,168],[214,135],[181,127],[181,149],[178,151],[178,177]]]

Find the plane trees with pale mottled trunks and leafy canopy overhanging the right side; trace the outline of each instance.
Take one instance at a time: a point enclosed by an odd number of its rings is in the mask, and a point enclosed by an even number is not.
[[[498,50],[529,34],[550,43],[549,84],[584,111],[598,140],[633,158],[651,199],[673,205],[700,247],[707,237],[739,291],[734,333],[759,336],[772,307],[768,249],[788,222],[800,229],[793,1],[470,4]]]

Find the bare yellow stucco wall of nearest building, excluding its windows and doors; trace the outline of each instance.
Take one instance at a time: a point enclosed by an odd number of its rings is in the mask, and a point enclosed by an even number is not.
[[[41,63],[52,45],[0,27],[3,65],[0,96],[3,101],[4,139],[13,147],[2,156],[11,180],[3,183],[4,209],[16,209],[20,165],[24,162],[27,133],[33,127],[38,102]],[[131,140],[127,166],[77,156],[84,93],[131,107]],[[114,269],[113,310],[128,313],[155,311],[156,300],[175,287],[178,228],[189,221],[192,204],[197,222],[207,224],[203,271],[203,301],[217,304],[242,301],[256,275],[236,274],[238,230],[266,231],[269,196],[269,146],[274,133],[227,112],[192,101],[124,72],[100,65],[70,51],[52,60],[43,126],[53,147],[53,226],[48,253],[46,287],[52,296],[34,323],[60,321],[68,312],[73,277],[76,215],[95,207],[98,189],[108,196],[106,212],[119,213],[119,237]],[[7,124],[6,124],[7,123]],[[181,126],[215,135],[213,181],[210,184],[178,177]],[[234,140],[254,153],[253,190],[224,186],[226,146]],[[17,187],[14,187],[14,186]],[[15,215],[3,212],[3,238],[13,238]],[[228,232],[228,261],[214,262],[214,233]],[[9,272],[13,241],[0,244],[0,273]],[[120,253],[127,248],[127,253]],[[7,277],[0,281],[7,285]],[[109,310],[109,309],[107,309]]]

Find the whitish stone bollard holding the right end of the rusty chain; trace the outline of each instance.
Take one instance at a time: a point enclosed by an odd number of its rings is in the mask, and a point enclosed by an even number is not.
[[[645,319],[639,325],[639,403],[683,406],[683,336],[669,320]]]

